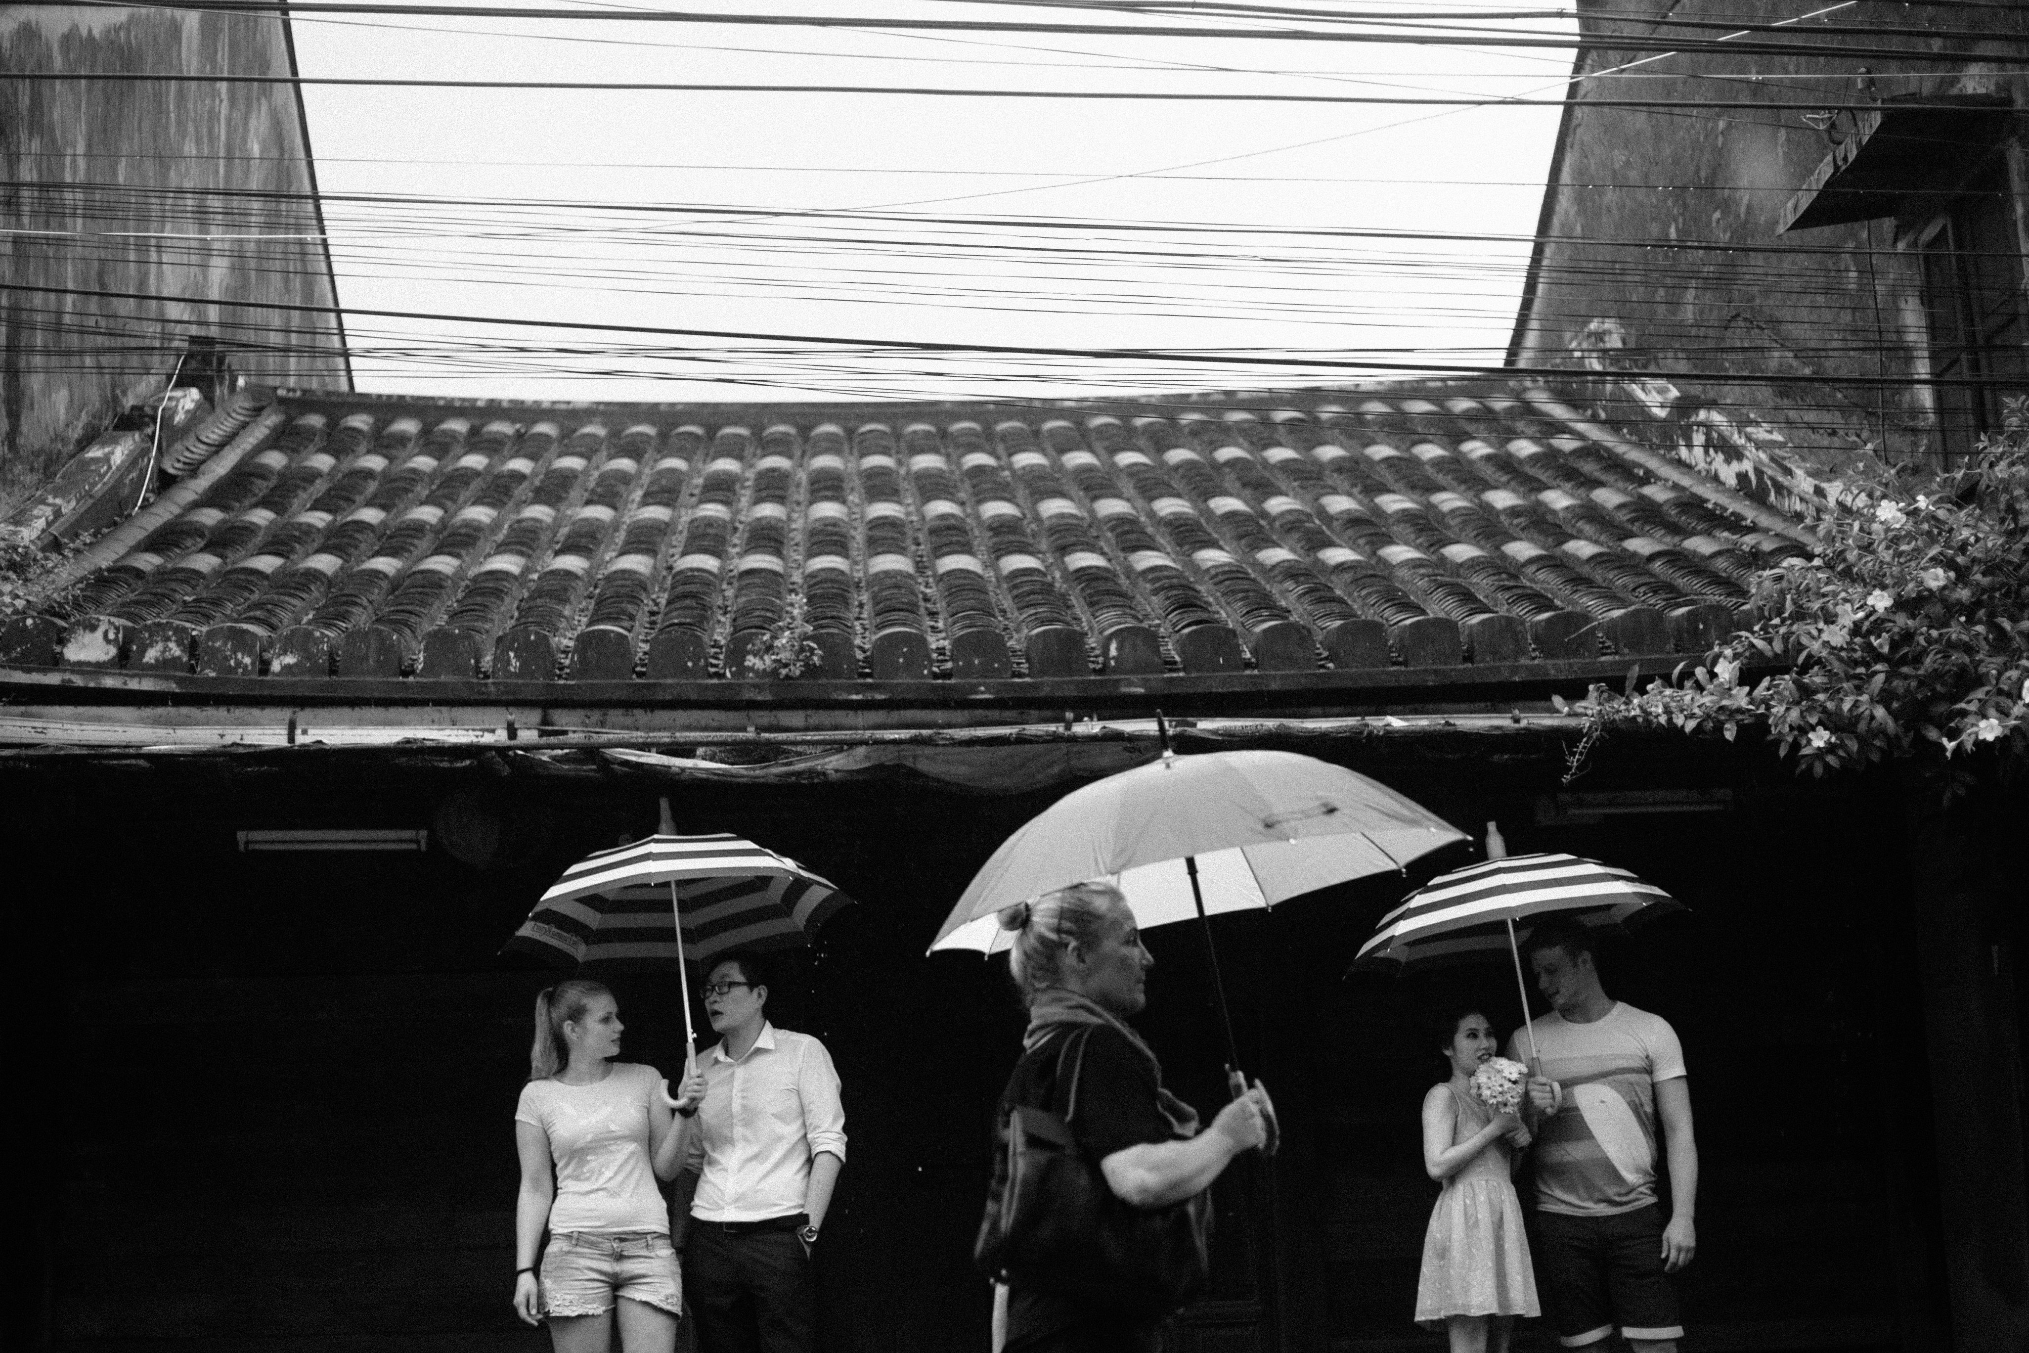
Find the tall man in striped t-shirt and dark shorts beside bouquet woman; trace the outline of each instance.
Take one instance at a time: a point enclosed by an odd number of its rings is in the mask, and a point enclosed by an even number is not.
[[[1579,921],[1538,925],[1524,953],[1552,1006],[1508,1045],[1516,1061],[1542,1057],[1528,1089],[1544,1306],[1566,1349],[1619,1327],[1633,1353],[1676,1353],[1684,1325],[1670,1274],[1698,1248],[1684,1049],[1668,1020],[1607,996]],[[1658,1126],[1668,1219],[1656,1199]]]

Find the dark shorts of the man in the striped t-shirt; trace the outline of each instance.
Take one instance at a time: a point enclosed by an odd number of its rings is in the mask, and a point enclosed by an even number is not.
[[[1676,1284],[1662,1272],[1662,1207],[1570,1217],[1536,1213],[1536,1282],[1558,1343],[1682,1339]]]

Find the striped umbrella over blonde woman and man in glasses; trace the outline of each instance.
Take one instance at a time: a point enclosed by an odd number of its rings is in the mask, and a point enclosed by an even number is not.
[[[734,949],[808,943],[850,901],[795,860],[730,832],[676,836],[663,799],[661,832],[566,868],[503,951],[580,966],[674,964],[690,1035],[686,959],[708,966]]]

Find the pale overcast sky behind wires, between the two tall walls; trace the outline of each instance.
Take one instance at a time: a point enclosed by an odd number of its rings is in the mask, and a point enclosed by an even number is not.
[[[783,0],[767,12],[1136,22],[958,0]],[[1558,97],[1570,69],[1558,49],[1027,32],[312,14],[294,32],[310,77]],[[359,87],[304,97],[327,195],[491,199],[327,201],[351,308],[1443,363],[1499,361],[1526,245],[1282,231],[1528,235],[1556,132],[1554,108]],[[791,215],[808,211],[903,219]],[[1299,363],[943,357],[369,318],[351,331],[363,389],[495,398],[1057,398],[1355,379]]]

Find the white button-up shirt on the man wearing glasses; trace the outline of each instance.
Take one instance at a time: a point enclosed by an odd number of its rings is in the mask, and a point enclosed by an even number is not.
[[[773,1024],[741,1059],[720,1043],[704,1055],[704,1103],[692,1136],[698,1193],[690,1215],[704,1221],[765,1221],[803,1211],[818,1152],[846,1158],[846,1108],[832,1055],[810,1035]]]

